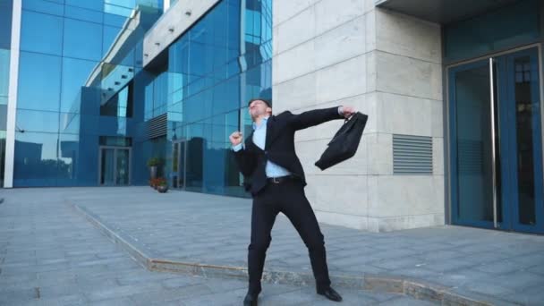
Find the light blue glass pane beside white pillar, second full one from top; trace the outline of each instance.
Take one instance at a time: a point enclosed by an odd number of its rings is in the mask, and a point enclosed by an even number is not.
[[[61,57],[21,52],[18,108],[58,111]]]

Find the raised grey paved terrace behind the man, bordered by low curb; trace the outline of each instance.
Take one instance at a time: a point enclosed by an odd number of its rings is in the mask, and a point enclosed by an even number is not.
[[[246,266],[250,200],[147,187],[67,197],[154,258]],[[322,225],[332,275],[410,276],[506,303],[544,301],[544,236],[442,226],[372,234]],[[310,272],[302,240],[278,217],[269,269]]]

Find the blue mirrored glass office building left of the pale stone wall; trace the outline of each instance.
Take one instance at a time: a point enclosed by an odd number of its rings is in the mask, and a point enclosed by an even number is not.
[[[228,135],[271,86],[271,1],[219,1],[145,68],[160,0],[23,0],[17,31],[0,5],[3,154],[20,37],[13,187],[144,185],[159,157],[174,188],[242,195]]]

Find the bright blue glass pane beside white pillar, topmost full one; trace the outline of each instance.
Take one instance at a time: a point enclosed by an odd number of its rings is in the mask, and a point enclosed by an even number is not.
[[[23,11],[21,50],[62,55],[63,19],[44,13]]]

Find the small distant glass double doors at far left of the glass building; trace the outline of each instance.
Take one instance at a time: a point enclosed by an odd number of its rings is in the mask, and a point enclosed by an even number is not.
[[[98,183],[101,186],[126,186],[131,183],[131,149],[100,147],[100,171]]]

